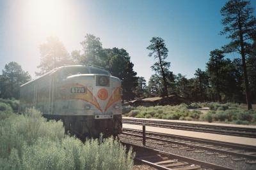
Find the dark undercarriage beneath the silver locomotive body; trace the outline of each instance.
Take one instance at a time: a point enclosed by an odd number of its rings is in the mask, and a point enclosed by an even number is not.
[[[122,115],[113,115],[113,118],[95,119],[94,116],[63,116],[43,115],[47,120],[61,120],[65,132],[76,136],[83,141],[86,138],[99,138],[100,133],[104,138],[117,136],[122,133]]]

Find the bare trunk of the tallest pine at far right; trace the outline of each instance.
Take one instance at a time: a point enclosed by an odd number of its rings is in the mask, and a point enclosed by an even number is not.
[[[242,31],[242,25],[240,22],[240,17],[238,17],[239,22],[239,41],[241,46],[241,57],[243,62],[243,73],[244,73],[244,87],[245,87],[245,95],[246,95],[246,102],[247,102],[247,108],[248,110],[252,109],[252,103],[250,100],[250,88],[248,83],[248,76],[247,76],[247,69],[246,69],[246,63],[245,63],[245,52],[244,52],[244,39],[243,39],[243,31]]]

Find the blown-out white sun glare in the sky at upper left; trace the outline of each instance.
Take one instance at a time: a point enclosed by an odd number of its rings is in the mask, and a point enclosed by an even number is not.
[[[77,26],[72,1],[30,0],[24,1],[22,25],[35,36],[61,36],[69,34]]]

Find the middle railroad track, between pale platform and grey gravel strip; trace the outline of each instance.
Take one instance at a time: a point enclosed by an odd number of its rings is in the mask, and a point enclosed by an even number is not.
[[[134,129],[123,129],[121,136],[126,136],[126,138],[127,136],[134,136],[136,139],[142,140],[142,131]],[[237,157],[243,157],[244,159],[249,159],[249,161],[256,160],[255,146],[239,145],[235,143],[212,141],[208,139],[191,138],[156,132],[147,132],[146,138],[150,141],[161,141],[163,143],[180,145],[180,148],[182,148],[182,146],[186,146],[198,150],[206,150],[214,153],[223,153]]]

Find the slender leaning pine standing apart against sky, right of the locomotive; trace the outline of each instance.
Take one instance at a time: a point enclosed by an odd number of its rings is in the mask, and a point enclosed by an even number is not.
[[[154,55],[154,59],[158,61],[151,67],[157,74],[163,78],[163,96],[168,96],[168,81],[166,78],[166,70],[170,67],[170,62],[166,62],[165,59],[168,56],[168,49],[164,43],[164,39],[159,37],[153,37],[150,40],[150,45],[147,47],[151,52],[148,54],[149,57]]]

